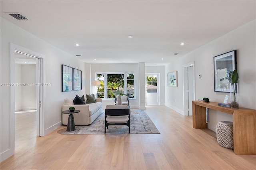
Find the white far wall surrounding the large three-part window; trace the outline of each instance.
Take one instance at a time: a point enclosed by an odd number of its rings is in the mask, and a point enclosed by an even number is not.
[[[136,99],[129,99],[130,108],[139,108],[139,66],[135,64],[91,64],[91,77],[94,80],[96,73],[120,73],[120,72],[135,72],[135,93]],[[114,105],[114,99],[103,99],[103,107],[106,105]]]

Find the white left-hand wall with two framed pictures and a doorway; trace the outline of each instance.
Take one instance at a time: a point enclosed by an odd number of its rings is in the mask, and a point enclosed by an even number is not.
[[[64,99],[67,97],[74,98],[76,94],[83,95],[84,87],[82,91],[70,91],[61,92],[61,65],[65,64],[70,67],[74,67],[82,70],[82,76],[84,75],[84,63],[76,59],[73,55],[69,55],[66,52],[54,47],[53,45],[45,42],[44,40],[26,32],[25,30],[15,26],[8,22],[4,18],[0,20],[1,26],[1,58],[0,58],[0,81],[1,83],[10,83],[10,43],[19,45],[31,51],[35,51],[42,55],[44,58],[44,83],[51,83],[52,86],[45,87],[45,103],[44,107],[44,135],[48,134],[55,128],[61,125],[61,109]],[[73,45],[70,43],[70,45]],[[82,77],[82,84],[84,84],[84,76]],[[14,148],[12,146],[12,138],[14,138],[14,130],[11,126],[11,122],[14,119],[10,113],[10,87],[0,87],[0,152],[1,161],[8,156],[14,154]],[[4,99],[4,100],[3,100]],[[4,107],[3,107],[4,106]],[[14,108],[13,108],[14,110]]]

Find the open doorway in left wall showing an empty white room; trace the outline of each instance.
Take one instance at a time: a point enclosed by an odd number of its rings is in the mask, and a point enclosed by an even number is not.
[[[15,51],[15,146],[35,140],[37,136],[37,60]]]

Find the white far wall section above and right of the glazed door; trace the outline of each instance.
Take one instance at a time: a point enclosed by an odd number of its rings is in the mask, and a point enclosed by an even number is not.
[[[165,103],[165,79],[167,78],[167,74],[164,72],[165,66],[145,66],[145,74],[149,73],[160,73],[160,105],[164,105]]]

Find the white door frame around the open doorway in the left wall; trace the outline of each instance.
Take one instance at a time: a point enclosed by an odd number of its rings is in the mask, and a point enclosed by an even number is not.
[[[19,53],[23,53],[25,55],[29,55],[32,57],[36,57],[36,83],[39,83],[36,88],[36,98],[37,98],[37,114],[36,114],[36,122],[37,122],[37,136],[44,136],[44,100],[45,100],[45,86],[43,86],[43,82],[45,82],[45,55],[32,51],[30,49],[21,47],[19,45],[10,43],[10,83],[15,83],[15,51]],[[10,87],[10,150],[14,154],[15,147],[15,87]]]

